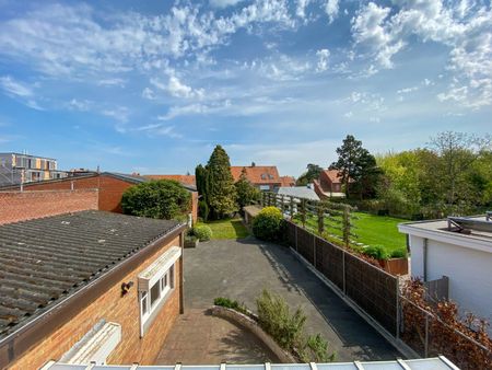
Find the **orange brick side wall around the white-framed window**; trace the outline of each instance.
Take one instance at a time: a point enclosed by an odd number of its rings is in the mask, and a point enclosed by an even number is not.
[[[99,320],[121,325],[121,342],[107,359],[112,365],[152,365],[157,357],[171,327],[179,314],[180,264],[176,263],[176,285],[174,291],[152,322],[143,338],[140,338],[138,275],[152,264],[156,257],[173,245],[179,245],[179,236],[160,248],[138,268],[129,273],[121,281],[94,300],[89,307],[63,324],[49,337],[38,343],[9,369],[38,369],[47,361],[59,360],[78,340],[82,338]],[[121,297],[121,282],[133,281],[130,291]]]

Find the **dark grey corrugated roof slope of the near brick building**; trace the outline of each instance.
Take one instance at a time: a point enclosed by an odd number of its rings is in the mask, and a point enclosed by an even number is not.
[[[0,227],[0,339],[177,228],[82,211]]]

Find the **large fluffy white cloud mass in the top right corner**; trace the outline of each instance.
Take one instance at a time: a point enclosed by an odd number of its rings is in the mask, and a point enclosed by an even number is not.
[[[377,67],[393,68],[393,57],[408,42],[434,42],[449,49],[447,69],[453,82],[443,96],[478,108],[492,104],[492,10],[475,2],[398,1],[400,9],[373,2],[362,7],[352,19],[355,45],[372,56]],[[377,71],[375,67],[375,71]],[[462,89],[466,88],[466,89]],[[456,94],[459,91],[460,93]],[[464,93],[466,91],[466,93]],[[446,99],[445,99],[446,100]],[[444,101],[445,101],[444,100]],[[455,100],[455,99],[454,99]]]

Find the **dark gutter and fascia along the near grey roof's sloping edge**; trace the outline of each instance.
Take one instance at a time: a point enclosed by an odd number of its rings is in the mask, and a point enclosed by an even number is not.
[[[0,369],[7,369],[13,361],[19,360],[33,346],[70,321],[115,284],[118,284],[126,275],[141,265],[143,261],[157,252],[163,244],[180,235],[186,228],[186,224],[178,224],[171,229],[166,234],[140,248],[129,258],[114,266],[89,285],[1,339]]]

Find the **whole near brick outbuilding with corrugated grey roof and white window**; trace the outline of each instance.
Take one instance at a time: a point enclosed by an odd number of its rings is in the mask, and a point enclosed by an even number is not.
[[[183,312],[185,226],[82,211],[0,227],[0,368],[152,363]]]

